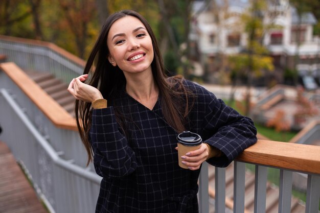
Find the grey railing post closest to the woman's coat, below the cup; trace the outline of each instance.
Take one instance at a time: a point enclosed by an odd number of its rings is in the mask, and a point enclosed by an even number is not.
[[[199,208],[201,213],[209,213],[209,178],[208,178],[208,163],[203,162],[199,176]]]

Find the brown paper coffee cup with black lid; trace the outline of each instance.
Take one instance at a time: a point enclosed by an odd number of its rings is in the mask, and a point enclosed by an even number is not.
[[[184,131],[178,134],[177,141],[179,166],[181,168],[188,169],[186,165],[182,164],[181,156],[186,155],[188,152],[199,149],[202,144],[202,138],[196,133]]]

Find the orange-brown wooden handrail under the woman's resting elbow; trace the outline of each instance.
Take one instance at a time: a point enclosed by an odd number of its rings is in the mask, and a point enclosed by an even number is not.
[[[258,140],[237,160],[320,175],[320,146]]]

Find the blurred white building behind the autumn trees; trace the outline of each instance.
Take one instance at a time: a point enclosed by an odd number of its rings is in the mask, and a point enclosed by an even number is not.
[[[278,70],[293,69],[300,73],[310,72],[315,75],[320,66],[320,39],[313,36],[313,25],[316,19],[312,13],[305,13],[301,20],[288,0],[268,1],[263,22],[275,25],[266,29],[263,34],[263,45]],[[272,4],[271,4],[272,2]],[[244,50],[247,35],[243,30],[241,15],[250,7],[249,0],[211,0],[195,1],[190,39],[194,42],[201,64],[207,72],[215,72],[215,59],[219,54],[230,55]],[[297,45],[300,36],[300,45]],[[299,48],[298,48],[299,47]],[[300,60],[295,64],[295,55]],[[214,62],[215,61],[215,62]],[[211,70],[210,70],[211,69]],[[320,74],[318,74],[320,76]]]

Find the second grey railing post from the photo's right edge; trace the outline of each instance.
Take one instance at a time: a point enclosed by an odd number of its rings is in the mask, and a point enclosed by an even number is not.
[[[292,193],[292,172],[280,170],[279,213],[290,213]]]

